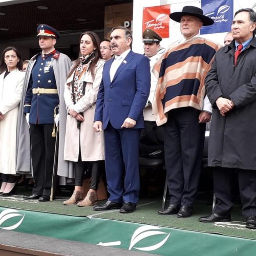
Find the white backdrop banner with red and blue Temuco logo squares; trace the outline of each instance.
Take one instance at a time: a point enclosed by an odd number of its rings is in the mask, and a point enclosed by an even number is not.
[[[231,31],[232,18],[236,11],[242,8],[252,8],[256,11],[256,0],[147,0],[133,3],[133,51],[143,53],[142,32],[145,28],[155,30],[162,36],[161,46],[166,48],[170,42],[181,38],[180,24],[168,17],[169,13],[182,11],[186,5],[202,8],[204,14],[215,20],[212,26],[203,27],[200,33],[203,37],[223,44],[227,32]],[[145,14],[150,13],[150,15]],[[159,19],[159,17],[161,17]],[[168,25],[166,25],[166,23]],[[164,27],[164,28],[163,28]],[[166,28],[168,27],[166,36]],[[164,30],[164,32],[162,31]]]

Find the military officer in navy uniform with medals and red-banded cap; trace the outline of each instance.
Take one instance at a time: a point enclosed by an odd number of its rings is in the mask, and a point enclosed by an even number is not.
[[[71,61],[68,56],[54,48],[56,39],[59,38],[56,29],[42,24],[37,28],[37,37],[42,51],[30,60],[30,68],[26,74],[29,78],[24,101],[24,113],[29,114],[35,186],[33,195],[24,196],[24,198],[49,201],[55,147],[55,138],[52,137],[53,114],[54,108],[59,104],[59,88],[64,86],[56,82],[57,79],[59,81],[56,77],[60,71],[54,70],[53,63],[60,62],[60,56],[63,62],[67,62],[66,66],[70,67]],[[58,69],[62,64],[59,63]]]

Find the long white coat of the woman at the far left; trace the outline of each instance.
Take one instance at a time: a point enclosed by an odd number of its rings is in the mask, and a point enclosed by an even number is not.
[[[16,131],[25,72],[18,69],[0,75],[0,173],[16,174]]]

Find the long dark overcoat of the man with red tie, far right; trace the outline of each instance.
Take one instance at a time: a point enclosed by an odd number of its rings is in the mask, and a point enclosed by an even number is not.
[[[217,53],[205,79],[214,107],[208,147],[208,165],[256,169],[256,38],[238,56],[234,67],[234,40]],[[234,109],[221,116],[215,101],[229,98]]]

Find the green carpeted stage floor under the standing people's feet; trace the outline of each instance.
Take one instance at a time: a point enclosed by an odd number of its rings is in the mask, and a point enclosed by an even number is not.
[[[0,198],[0,206],[14,209],[51,212],[61,215],[150,224],[256,240],[256,230],[245,228],[245,222],[241,216],[241,209],[238,206],[234,207],[232,211],[233,222],[208,224],[198,222],[199,217],[207,215],[211,211],[211,206],[205,205],[202,202],[198,202],[195,205],[193,216],[187,219],[179,219],[176,215],[157,215],[157,210],[161,208],[161,199],[141,199],[138,203],[137,210],[132,214],[120,214],[119,210],[104,212],[93,211],[92,207],[78,207],[77,205],[64,206],[62,205],[62,201],[63,200],[38,202],[37,200],[24,200],[22,196],[13,196]]]

